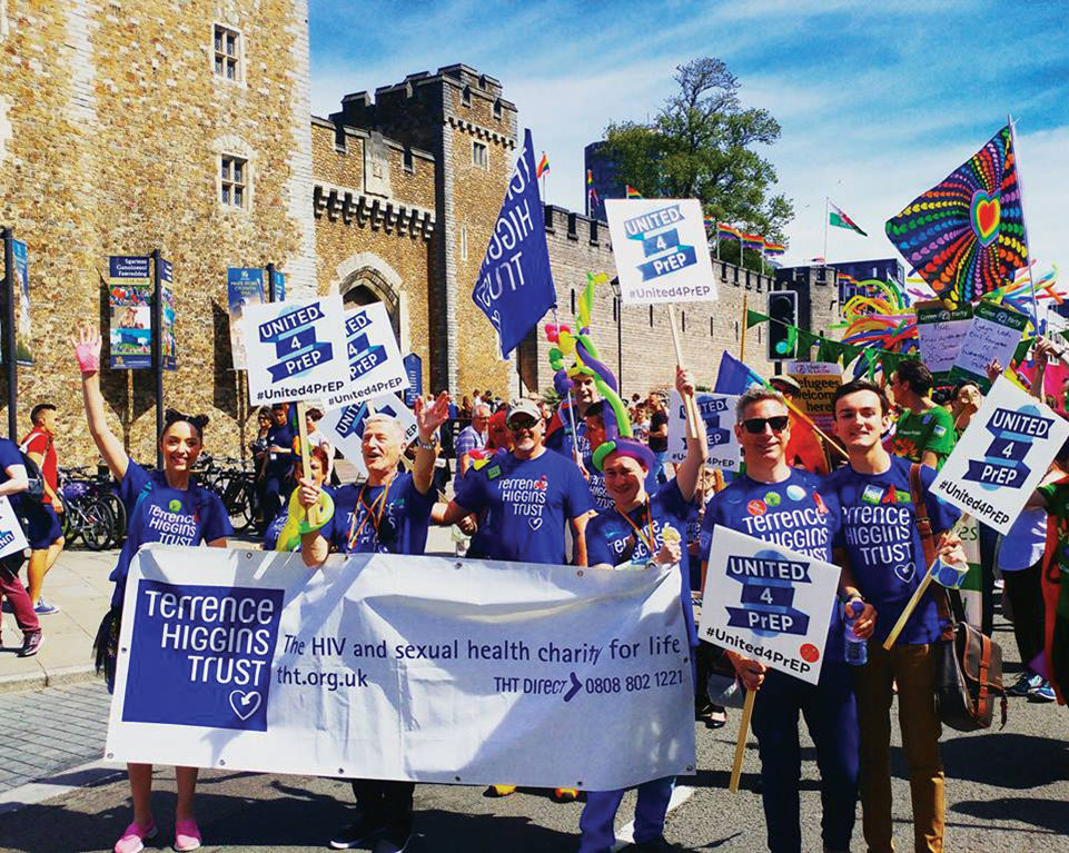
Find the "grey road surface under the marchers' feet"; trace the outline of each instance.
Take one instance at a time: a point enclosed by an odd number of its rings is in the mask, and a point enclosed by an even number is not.
[[[997,636],[1011,656],[1014,644],[1008,628],[1000,625]],[[1016,661],[1007,662],[1011,673],[1018,666]],[[100,766],[69,770],[87,756],[101,753],[107,706],[102,687],[91,682],[0,700],[7,733],[0,746],[0,767],[7,774],[2,777],[7,781],[0,782],[0,801],[33,801],[14,811],[0,811],[0,850],[110,850],[129,820],[125,776]],[[28,730],[36,734],[19,734]],[[596,721],[591,721],[591,736],[596,736]],[[70,732],[77,736],[70,737]],[[66,735],[63,745],[59,745],[61,733]],[[30,741],[37,745],[29,746]],[[700,851],[765,849],[753,744],[743,790],[736,796],[725,790],[733,741],[731,724],[720,731],[699,731],[700,771],[681,780],[676,797],[681,802],[667,826],[671,840]],[[48,742],[51,746],[46,745]],[[818,775],[812,744],[805,737],[803,747],[803,849],[819,851]],[[46,755],[47,748],[59,754]],[[948,851],[1069,852],[1069,711],[1013,701],[1004,732],[948,732],[943,758],[948,774]],[[10,764],[12,761],[19,765]],[[37,767],[40,775],[50,776],[50,786],[11,787],[32,776]],[[909,788],[899,748],[894,750],[893,773],[899,849],[908,850]],[[51,799],[43,799],[50,794]],[[156,802],[166,835],[174,814],[174,777],[169,771],[158,774]],[[347,819],[349,802],[348,786],[334,780],[206,772],[198,794],[207,840],[204,849],[237,853],[323,850],[331,830]],[[11,807],[10,803],[0,805],[0,810]],[[581,805],[556,804],[543,792],[488,800],[481,788],[424,785],[417,787],[416,807],[416,829],[422,837],[413,845],[414,853],[565,853],[576,846]],[[633,799],[628,796],[621,809],[618,830],[626,829],[631,809]],[[169,839],[164,841],[169,843]],[[860,849],[859,824],[854,850]]]

